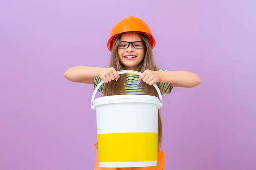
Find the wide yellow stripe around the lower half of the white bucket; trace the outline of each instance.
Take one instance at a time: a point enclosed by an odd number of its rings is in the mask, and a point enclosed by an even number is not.
[[[98,134],[99,162],[157,161],[157,133]]]

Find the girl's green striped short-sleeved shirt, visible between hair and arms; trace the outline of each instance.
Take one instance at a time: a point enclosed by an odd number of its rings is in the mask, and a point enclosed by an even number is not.
[[[164,69],[159,69],[156,66],[156,71],[163,72],[167,71]],[[146,94],[145,89],[141,88],[141,82],[138,81],[139,76],[136,74],[126,74],[125,80],[124,80],[124,90],[121,92],[121,94]],[[94,78],[94,88],[101,82],[101,78],[95,77]],[[157,86],[161,92],[161,94],[169,94],[171,93],[171,90],[173,87],[170,86],[170,83],[164,83],[159,82],[157,83]],[[105,89],[105,83],[101,85],[101,87],[98,89],[98,92],[104,93]]]

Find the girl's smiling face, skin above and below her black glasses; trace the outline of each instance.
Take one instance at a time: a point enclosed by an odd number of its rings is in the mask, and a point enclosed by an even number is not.
[[[121,35],[119,41],[142,41],[137,33],[126,33]],[[139,64],[144,59],[145,48],[137,49],[129,44],[129,47],[126,49],[117,49],[119,56],[119,61],[124,65],[126,70],[137,70]]]

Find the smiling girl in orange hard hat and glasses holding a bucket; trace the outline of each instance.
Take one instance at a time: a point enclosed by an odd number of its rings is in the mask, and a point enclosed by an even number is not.
[[[197,74],[188,71],[167,71],[154,63],[152,49],[155,47],[148,25],[139,18],[130,16],[120,20],[112,29],[108,40],[111,57],[107,68],[76,66],[69,68],[64,76],[73,82],[93,84],[94,88],[104,81],[98,91],[104,96],[119,94],[146,94],[157,96],[152,84],[156,83],[162,94],[171,93],[173,87],[195,87],[201,83]],[[117,74],[119,70],[135,70],[134,74]],[[162,144],[162,121],[158,111],[158,159],[157,166],[137,168],[100,168],[98,155],[95,170],[164,170]],[[97,144],[95,147],[97,148]]]

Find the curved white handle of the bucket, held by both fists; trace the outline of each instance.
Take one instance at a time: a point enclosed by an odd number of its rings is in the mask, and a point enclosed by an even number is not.
[[[137,72],[137,71],[134,71],[134,70],[121,70],[121,71],[118,71],[117,74],[127,74],[127,73],[130,73],[130,74],[136,74],[138,76],[140,76],[142,73],[141,72]],[[97,87],[95,87],[94,89],[94,92],[92,94],[92,102],[91,102],[91,107],[92,107],[92,110],[94,110],[94,98],[95,98],[95,95],[99,89],[99,87],[101,87],[101,85],[104,83],[104,81],[102,80],[98,85]],[[157,90],[157,93],[158,93],[158,96],[159,96],[159,99],[160,99],[160,108],[163,107],[163,98],[162,98],[162,94],[158,88],[158,86],[154,83],[153,86],[155,87],[155,89]]]

